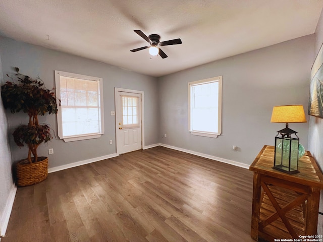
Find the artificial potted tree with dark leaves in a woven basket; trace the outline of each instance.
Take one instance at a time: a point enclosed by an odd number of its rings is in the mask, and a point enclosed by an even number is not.
[[[48,158],[38,157],[37,148],[42,142],[51,140],[52,135],[48,125],[38,123],[38,115],[55,114],[58,108],[55,92],[46,89],[39,77],[33,79],[22,75],[17,67],[15,71],[17,80],[7,74],[12,81],[7,81],[1,87],[1,96],[6,109],[12,113],[23,111],[29,116],[28,125],[19,125],[13,132],[14,141],[19,147],[24,143],[28,146],[27,159],[16,163],[16,184],[24,187],[47,178]]]

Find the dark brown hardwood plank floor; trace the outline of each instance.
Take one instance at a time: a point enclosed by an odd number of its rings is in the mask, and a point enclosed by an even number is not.
[[[18,188],[2,242],[254,241],[247,169],[165,147]]]

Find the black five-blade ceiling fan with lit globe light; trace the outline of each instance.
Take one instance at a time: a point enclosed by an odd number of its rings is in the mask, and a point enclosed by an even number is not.
[[[148,37],[141,31],[141,30],[134,30],[140,37],[142,37],[144,40],[146,40],[150,45],[132,49],[130,51],[136,52],[142,49],[147,49],[149,48],[149,53],[151,55],[157,55],[159,53],[161,58],[167,58],[167,54],[163,50],[161,50],[158,45],[160,46],[165,46],[165,45],[172,45],[172,44],[181,44],[182,40],[181,39],[172,39],[172,40],[167,40],[167,41],[162,41],[159,42],[160,36],[158,34],[151,34]]]

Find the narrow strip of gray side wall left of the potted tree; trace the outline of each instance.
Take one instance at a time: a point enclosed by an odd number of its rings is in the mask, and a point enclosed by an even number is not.
[[[0,84],[3,82],[3,72],[0,54]],[[11,173],[11,152],[8,141],[8,122],[2,99],[0,98],[0,222],[4,219],[6,205],[14,183]],[[0,230],[3,224],[0,223]],[[4,231],[1,231],[4,233]]]

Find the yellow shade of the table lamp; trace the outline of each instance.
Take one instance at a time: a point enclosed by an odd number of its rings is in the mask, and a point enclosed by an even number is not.
[[[271,123],[306,123],[303,105],[275,106]]]

